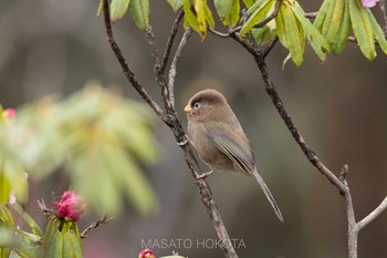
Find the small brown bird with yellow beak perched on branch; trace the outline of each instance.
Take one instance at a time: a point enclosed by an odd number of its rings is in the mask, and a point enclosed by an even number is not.
[[[226,97],[215,90],[203,90],[189,100],[185,112],[188,135],[200,158],[211,167],[205,176],[215,169],[253,175],[275,215],[283,221],[273,195],[258,174],[254,151]]]

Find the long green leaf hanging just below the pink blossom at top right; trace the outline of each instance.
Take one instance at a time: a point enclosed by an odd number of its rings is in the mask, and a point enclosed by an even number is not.
[[[366,8],[358,0],[349,0],[349,16],[355,38],[363,54],[373,60],[376,56],[374,33]]]

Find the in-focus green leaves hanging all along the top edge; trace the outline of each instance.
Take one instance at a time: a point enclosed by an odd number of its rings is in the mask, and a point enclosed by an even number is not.
[[[176,12],[182,8],[185,27],[190,25],[205,40],[208,28],[215,28],[215,19],[207,0],[167,0]],[[266,44],[275,37],[289,50],[284,63],[292,59],[296,65],[303,63],[305,40],[320,60],[326,53],[339,54],[348,41],[351,29],[369,60],[375,59],[375,41],[387,54],[387,41],[369,8],[360,0],[325,0],[315,21],[305,18],[304,10],[295,0],[213,0],[218,17],[227,30],[239,25],[239,37],[252,33],[258,44]],[[275,6],[281,4],[275,13]],[[244,6],[244,8],[243,8]],[[146,30],[149,25],[149,1],[112,0],[112,20],[123,18],[127,9],[137,27]],[[101,8],[100,8],[101,9]],[[260,25],[270,16],[275,19]]]

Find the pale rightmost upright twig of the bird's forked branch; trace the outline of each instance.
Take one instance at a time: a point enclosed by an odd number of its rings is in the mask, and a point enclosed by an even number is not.
[[[169,91],[169,100],[175,109],[175,79],[176,79],[176,73],[177,73],[177,62],[179,61],[179,58],[187,44],[189,35],[192,33],[192,28],[188,27],[185,33],[182,34],[181,41],[179,43],[179,47],[177,48],[172,63],[170,64],[169,68],[169,73],[168,73],[168,91]]]

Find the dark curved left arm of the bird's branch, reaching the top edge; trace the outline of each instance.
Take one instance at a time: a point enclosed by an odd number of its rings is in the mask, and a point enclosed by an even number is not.
[[[109,43],[111,49],[113,50],[118,63],[121,64],[121,68],[123,69],[123,72],[126,79],[130,82],[130,84],[138,92],[138,94],[149,104],[149,106],[155,111],[155,113],[165,123],[169,124],[170,123],[169,117],[164,113],[163,109],[150,96],[150,94],[142,86],[142,84],[138,82],[137,78],[130,70],[129,65],[127,64],[124,55],[122,54],[122,51],[113,35],[112,20],[111,20],[111,13],[109,13],[109,7],[108,7],[107,0],[104,0],[104,22],[105,22],[107,42]]]

